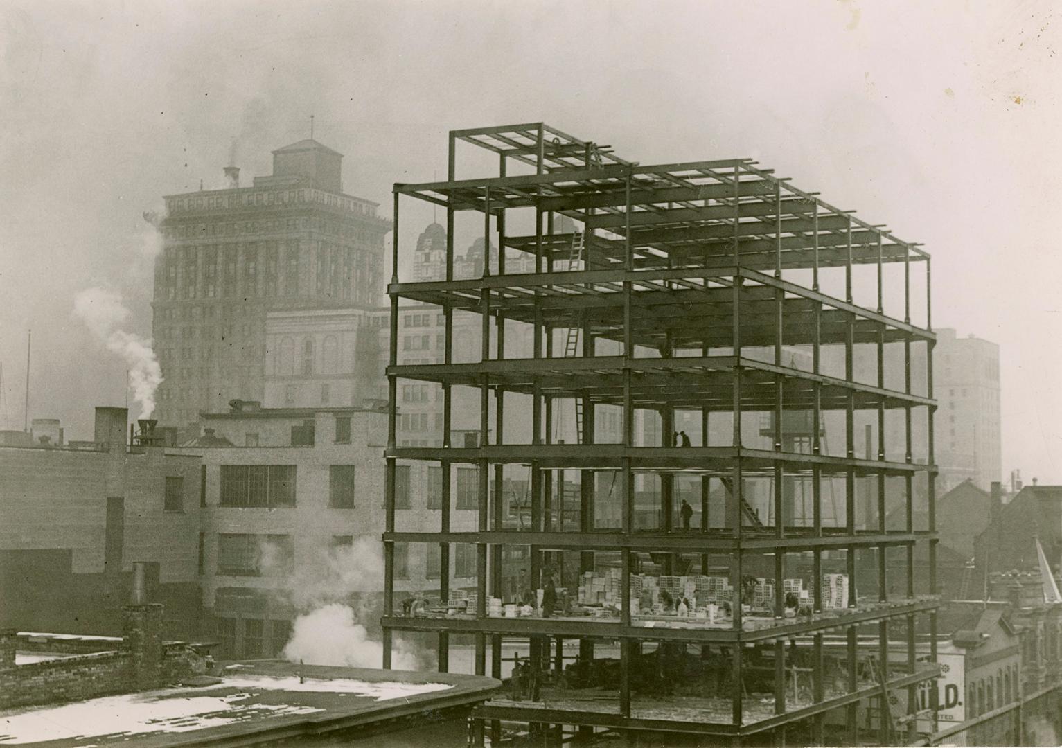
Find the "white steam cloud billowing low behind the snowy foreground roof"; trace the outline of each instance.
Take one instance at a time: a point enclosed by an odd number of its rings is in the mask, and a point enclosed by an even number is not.
[[[263,573],[281,563],[278,549],[263,543],[259,549],[259,566]],[[285,570],[275,569],[285,573]],[[290,570],[289,570],[290,571]],[[366,595],[383,589],[383,557],[379,540],[357,538],[348,546],[322,550],[316,562],[301,564],[285,577],[281,593],[298,615],[292,626],[291,640],[284,657],[314,665],[346,665],[379,667],[383,662],[383,644],[370,638],[359,620],[374,615]],[[357,610],[352,597],[357,596]],[[392,665],[397,669],[417,669],[415,651],[395,640]]]

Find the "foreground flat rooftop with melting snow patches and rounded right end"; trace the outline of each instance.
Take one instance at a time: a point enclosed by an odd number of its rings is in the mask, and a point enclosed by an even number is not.
[[[493,678],[269,660],[228,665],[202,685],[0,711],[0,746],[254,745],[414,727],[429,712],[470,707],[500,686]],[[217,680],[217,682],[212,682]]]

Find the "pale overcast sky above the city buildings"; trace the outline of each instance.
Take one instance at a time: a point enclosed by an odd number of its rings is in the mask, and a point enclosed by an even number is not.
[[[546,121],[641,163],[754,157],[933,256],[933,324],[1000,346],[1004,472],[1062,483],[1062,17],[1000,2],[7,2],[0,5],[0,427],[91,438],[151,332],[141,213],[244,184],[308,135],[348,193],[446,169],[446,132]],[[404,204],[405,205],[405,204]],[[401,241],[430,221],[402,214]]]

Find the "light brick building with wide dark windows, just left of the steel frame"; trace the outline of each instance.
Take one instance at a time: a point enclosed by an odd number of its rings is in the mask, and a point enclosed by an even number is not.
[[[236,401],[201,417],[204,433],[177,451],[202,457],[203,630],[218,638],[220,654],[275,656],[296,615],[332,603],[353,606],[360,623],[376,628],[386,411]],[[423,465],[398,471],[404,526],[438,522],[440,487],[428,485],[433,477]],[[465,517],[472,512],[460,503],[457,508],[456,525],[475,526]],[[464,561],[452,568],[450,581],[468,584],[474,554],[459,549],[456,557]],[[397,589],[438,590],[438,547],[418,546],[397,562]]]

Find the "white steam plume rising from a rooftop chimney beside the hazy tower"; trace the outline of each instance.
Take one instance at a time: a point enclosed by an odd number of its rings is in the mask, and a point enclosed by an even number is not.
[[[139,418],[151,417],[155,410],[155,390],[162,383],[162,368],[150,340],[120,329],[130,317],[122,297],[99,286],[85,289],[74,297],[73,314],[85,323],[107,350],[125,360],[133,397],[140,403]]]

